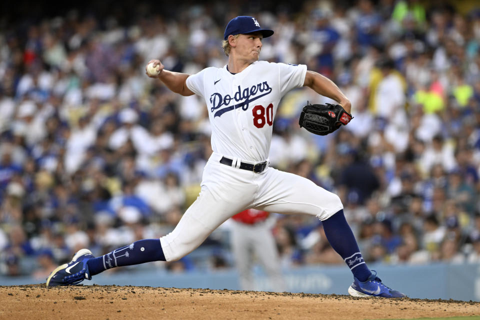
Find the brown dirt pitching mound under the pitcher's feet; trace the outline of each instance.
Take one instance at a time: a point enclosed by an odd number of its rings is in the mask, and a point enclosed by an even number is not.
[[[480,315],[480,303],[144,286],[0,286],[1,319],[385,319]]]

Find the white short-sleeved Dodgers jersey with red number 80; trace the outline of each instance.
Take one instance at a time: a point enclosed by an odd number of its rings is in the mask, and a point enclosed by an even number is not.
[[[282,96],[303,86],[306,65],[255,61],[239,73],[208,67],[187,87],[208,107],[213,151],[248,161],[267,159],[273,118]]]

